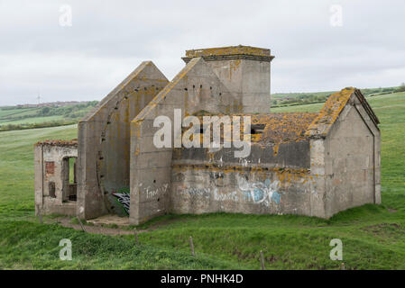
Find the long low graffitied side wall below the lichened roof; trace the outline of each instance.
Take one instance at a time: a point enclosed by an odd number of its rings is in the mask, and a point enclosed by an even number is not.
[[[315,193],[319,180],[309,169],[309,142],[283,143],[277,154],[253,144],[251,155],[240,159],[232,149],[176,149],[170,211],[324,216]]]

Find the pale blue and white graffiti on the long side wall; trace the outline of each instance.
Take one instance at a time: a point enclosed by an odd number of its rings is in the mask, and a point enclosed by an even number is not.
[[[244,195],[254,203],[270,206],[271,202],[280,203],[281,194],[278,192],[281,182],[266,179],[264,182],[248,182],[244,176],[237,177],[237,184]]]

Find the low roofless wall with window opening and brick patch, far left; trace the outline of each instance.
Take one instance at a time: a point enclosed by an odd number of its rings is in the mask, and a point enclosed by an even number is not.
[[[76,202],[69,202],[69,166],[67,157],[78,157],[78,148],[69,146],[36,145],[34,148],[35,168],[35,212],[42,214],[76,215]],[[54,184],[54,196],[50,186]]]

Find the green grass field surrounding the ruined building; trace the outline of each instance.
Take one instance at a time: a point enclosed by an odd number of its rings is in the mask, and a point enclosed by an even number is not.
[[[0,132],[0,268],[18,269],[338,269],[329,242],[343,241],[346,269],[405,269],[405,93],[369,98],[382,130],[382,205],[330,220],[293,215],[165,215],[131,236],[91,235],[34,219],[32,144],[71,139],[76,126]],[[316,112],[321,103],[289,107]],[[287,108],[272,112],[286,112]],[[189,236],[197,257],[189,256]],[[60,261],[59,241],[73,260]]]

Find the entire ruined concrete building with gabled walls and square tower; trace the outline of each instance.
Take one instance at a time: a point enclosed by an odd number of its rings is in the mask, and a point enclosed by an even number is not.
[[[143,62],[79,122],[77,141],[35,145],[37,211],[138,224],[216,211],[329,218],[380,203],[379,121],[363,94],[345,88],[318,113],[271,113],[272,58],[246,46],[188,50],[171,81]],[[157,148],[153,122],[176,121],[175,110],[251,116],[250,154]]]

